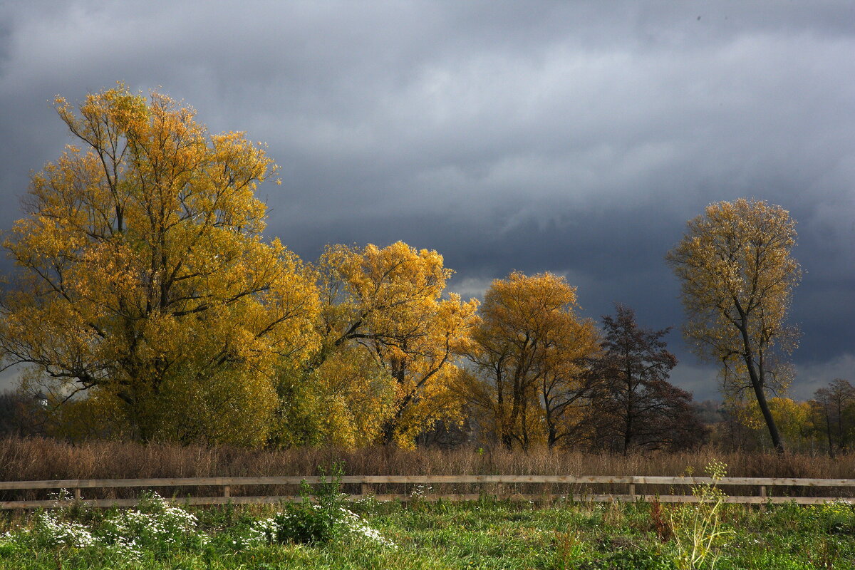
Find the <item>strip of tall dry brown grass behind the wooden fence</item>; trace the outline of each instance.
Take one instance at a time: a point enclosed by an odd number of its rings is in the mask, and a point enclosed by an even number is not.
[[[727,463],[728,475],[737,477],[855,477],[855,454],[831,459],[825,455],[778,457],[774,453],[722,452],[713,448],[627,456],[568,450],[535,450],[527,454],[501,448],[473,447],[455,450],[383,447],[354,451],[330,448],[251,450],[111,441],[73,445],[47,438],[4,438],[0,439],[0,480],[315,475],[317,467],[328,469],[333,462],[341,462],[345,474],[352,475],[681,475],[687,473],[687,468],[695,474],[704,473],[705,466],[712,459]],[[540,492],[541,489],[533,488],[528,492]],[[179,496],[190,492],[187,488],[163,491]],[[281,491],[262,487],[244,489],[243,492],[233,489],[235,495]],[[624,492],[621,489],[614,491]],[[638,491],[663,492],[661,488]],[[110,491],[104,497],[124,496],[127,492]],[[198,489],[193,494],[219,492],[216,489]],[[733,495],[742,492],[755,494],[756,490],[731,488],[728,492]],[[27,497],[36,497],[37,494],[35,491],[27,492]],[[6,495],[8,493],[4,493]]]

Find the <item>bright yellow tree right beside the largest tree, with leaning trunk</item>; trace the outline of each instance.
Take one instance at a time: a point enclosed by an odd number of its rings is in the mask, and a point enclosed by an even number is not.
[[[410,447],[438,420],[460,420],[450,387],[478,303],[444,297],[450,276],[439,253],[403,242],[327,247],[315,267],[321,345],[303,382],[350,419],[354,435],[339,442]]]

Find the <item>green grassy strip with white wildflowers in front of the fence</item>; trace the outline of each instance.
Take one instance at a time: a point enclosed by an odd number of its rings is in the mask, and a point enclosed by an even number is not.
[[[326,498],[325,498],[326,497]],[[0,567],[49,569],[855,567],[855,508],[341,502],[3,514]],[[700,532],[696,532],[699,527]],[[696,536],[693,536],[696,535]],[[708,542],[709,541],[709,542]],[[701,549],[697,549],[701,546]],[[694,561],[693,559],[693,547]],[[705,547],[709,547],[704,549]]]

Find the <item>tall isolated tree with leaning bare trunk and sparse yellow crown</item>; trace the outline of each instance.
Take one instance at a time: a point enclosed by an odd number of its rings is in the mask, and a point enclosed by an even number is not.
[[[775,450],[784,452],[767,393],[786,389],[784,361],[796,332],[785,323],[799,263],[786,210],[740,198],[713,203],[690,220],[666,259],[682,286],[684,336],[700,357],[722,365],[732,396],[753,391]]]

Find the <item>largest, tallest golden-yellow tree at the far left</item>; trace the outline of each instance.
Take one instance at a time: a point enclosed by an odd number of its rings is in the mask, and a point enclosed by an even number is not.
[[[274,164],[161,93],[120,84],[56,109],[80,146],[32,176],[3,242],[19,268],[6,363],[135,438],[262,443],[274,369],[314,350],[318,309],[297,256],[262,239]]]

